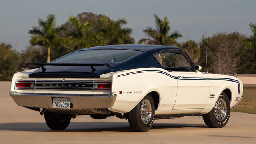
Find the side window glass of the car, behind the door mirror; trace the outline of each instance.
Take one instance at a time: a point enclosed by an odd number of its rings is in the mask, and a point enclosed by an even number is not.
[[[188,60],[179,52],[161,52],[154,55],[156,60],[167,70],[192,71]]]

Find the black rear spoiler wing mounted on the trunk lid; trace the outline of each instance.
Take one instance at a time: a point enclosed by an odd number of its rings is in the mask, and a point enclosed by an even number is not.
[[[90,66],[92,68],[92,73],[96,70],[93,66],[106,66],[107,68],[113,70],[113,68],[107,64],[81,64],[81,63],[26,63],[23,68],[28,68],[28,66],[40,66],[42,72],[45,72],[46,68],[44,66]]]

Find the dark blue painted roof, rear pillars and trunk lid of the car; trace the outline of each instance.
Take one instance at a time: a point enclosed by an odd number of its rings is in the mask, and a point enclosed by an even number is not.
[[[92,48],[84,48],[82,50],[100,50],[100,49],[124,49],[124,50],[140,50],[144,51],[124,62],[104,62],[108,63],[113,69],[106,66],[93,66],[96,70],[92,72],[90,66],[45,66],[46,71],[42,72],[42,68],[38,68],[29,77],[61,77],[61,78],[100,78],[100,75],[109,72],[116,72],[120,70],[129,70],[136,68],[162,68],[162,65],[154,58],[154,54],[165,50],[183,51],[181,48],[174,46],[159,46],[159,45],[141,45],[141,44],[127,44],[127,45],[110,45],[110,46],[96,46]],[[74,52],[72,52],[74,53]],[[70,53],[70,54],[72,54]],[[186,53],[186,52],[185,52]],[[68,54],[67,54],[68,55]],[[65,55],[65,56],[67,56]],[[53,61],[54,62],[54,61]],[[84,62],[84,63],[102,63],[102,62]]]

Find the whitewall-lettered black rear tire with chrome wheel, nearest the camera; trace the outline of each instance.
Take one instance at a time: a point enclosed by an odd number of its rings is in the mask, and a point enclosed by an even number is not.
[[[146,95],[135,108],[128,112],[127,116],[133,131],[146,132],[150,130],[155,116],[155,106],[152,96],[150,94]]]

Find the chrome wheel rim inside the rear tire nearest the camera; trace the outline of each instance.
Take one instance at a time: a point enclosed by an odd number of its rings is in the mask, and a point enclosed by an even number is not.
[[[150,122],[150,118],[152,116],[152,107],[150,101],[148,99],[144,99],[140,108],[140,117],[144,124],[148,124]]]

